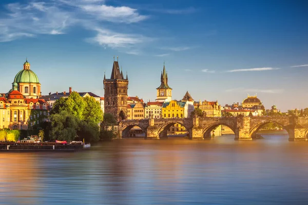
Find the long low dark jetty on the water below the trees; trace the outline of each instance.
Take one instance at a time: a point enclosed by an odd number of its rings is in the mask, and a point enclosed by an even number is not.
[[[90,144],[59,144],[54,142],[21,143],[2,142],[0,151],[79,151],[90,149]]]

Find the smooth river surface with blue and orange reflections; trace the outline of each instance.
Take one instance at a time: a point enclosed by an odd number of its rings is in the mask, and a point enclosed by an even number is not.
[[[0,204],[306,204],[307,142],[121,139],[0,152]]]

